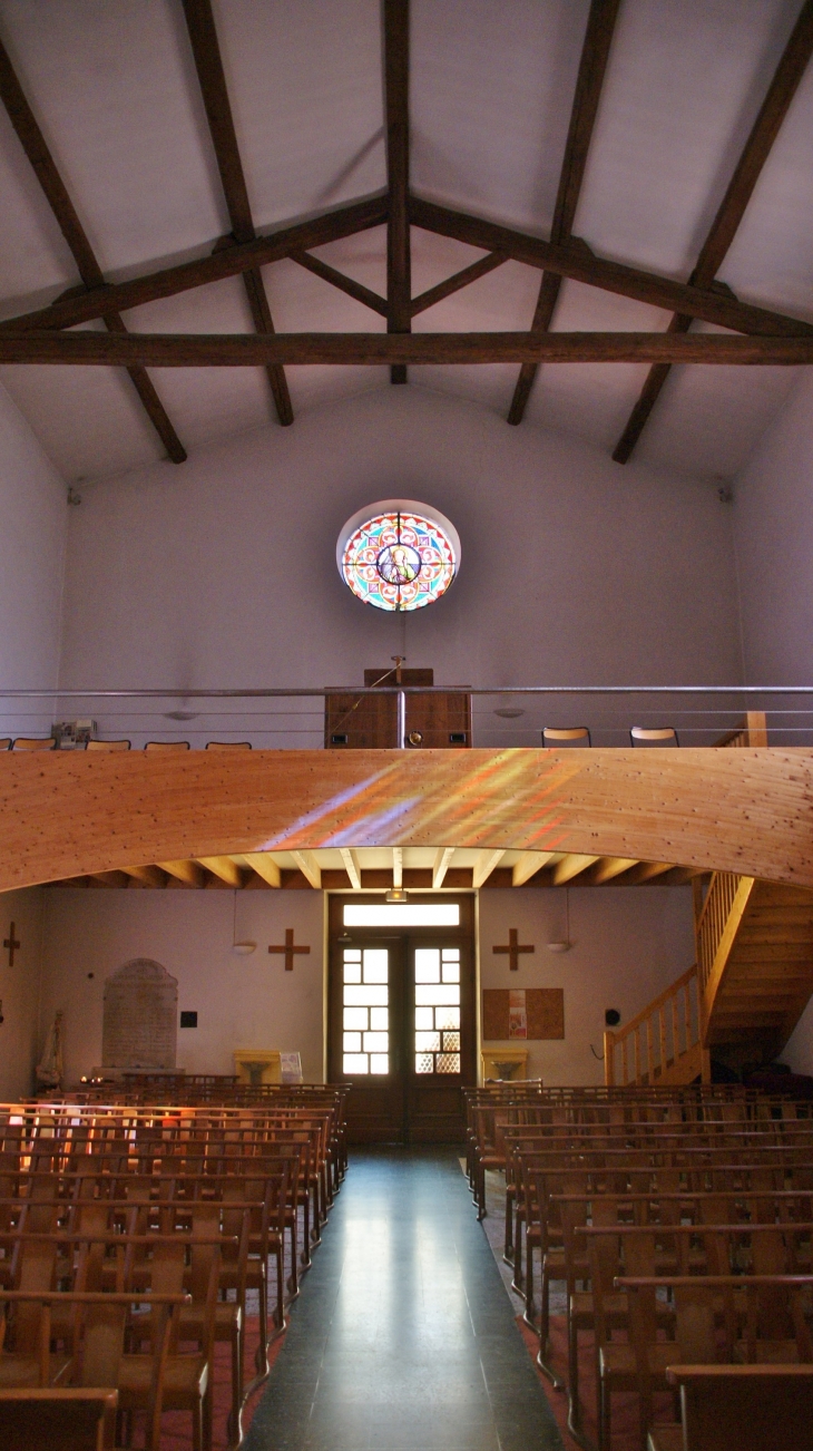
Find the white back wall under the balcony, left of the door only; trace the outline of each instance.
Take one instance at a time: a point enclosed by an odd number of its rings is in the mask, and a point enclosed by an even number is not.
[[[101,1062],[104,979],[130,958],[155,958],[178,979],[178,1010],[197,1011],[197,1029],[178,1029],[178,1066],[232,1074],[236,1048],[301,1053],[303,1074],[322,1081],[322,892],[238,892],[236,940],[257,942],[251,956],[232,950],[235,894],[225,891],[46,889],[42,1013],[65,1013],[65,1081]],[[310,946],[294,971],[268,953],[270,943]],[[93,974],[93,978],[88,977]]]

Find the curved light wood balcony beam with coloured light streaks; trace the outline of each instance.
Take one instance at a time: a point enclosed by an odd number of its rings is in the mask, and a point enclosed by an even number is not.
[[[312,852],[335,846],[625,856],[813,887],[813,752],[0,757],[0,891],[268,850],[310,879]]]

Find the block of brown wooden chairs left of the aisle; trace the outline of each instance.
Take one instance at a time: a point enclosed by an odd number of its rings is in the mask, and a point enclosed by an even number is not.
[[[146,1415],[157,1451],[162,1410],[183,1409],[206,1451],[213,1347],[228,1341],[238,1439],[248,1297],[261,1376],[343,1172],[341,1096],[283,1097],[200,1110],[0,1106],[0,1392],[14,1392],[12,1421],[26,1389],[48,1422],[58,1392],[109,1387],[119,1432]],[[104,1407],[97,1429],[110,1423]]]

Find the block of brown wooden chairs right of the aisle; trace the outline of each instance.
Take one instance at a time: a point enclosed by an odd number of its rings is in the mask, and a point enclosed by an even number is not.
[[[575,1441],[593,1445],[580,1389],[593,1362],[600,1451],[612,1448],[617,1392],[638,1397],[642,1448],[730,1451],[730,1438],[709,1439],[709,1405],[730,1400],[743,1376],[748,1396],[770,1386],[775,1439],[752,1442],[741,1421],[738,1451],[813,1447],[810,1428],[784,1439],[783,1425],[799,1425],[800,1386],[813,1394],[810,1106],[742,1091],[512,1087],[470,1096],[472,1199],[483,1214],[485,1175],[506,1172],[504,1258],[539,1335],[539,1368],[567,1390]],[[552,1362],[559,1284],[567,1370]],[[654,1423],[664,1394],[665,1426]]]

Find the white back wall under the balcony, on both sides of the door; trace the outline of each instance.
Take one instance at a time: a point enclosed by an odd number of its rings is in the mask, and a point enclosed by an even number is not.
[[[258,943],[252,956],[230,952],[229,891],[46,889],[42,1032],[65,1013],[65,1075],[75,1081],[101,1062],[104,979],[135,956],[161,962],[178,978],[178,1008],[199,1013],[197,1029],[178,1030],[178,1066],[232,1072],[235,1048],[299,1049],[307,1080],[322,1078],[323,894],[239,892],[238,940]],[[604,1008],[626,1022],[693,959],[691,894],[687,888],[571,891],[571,952],[545,943],[564,936],[561,891],[480,894],[483,987],[564,987],[564,1042],[530,1042],[530,1071],[546,1082],[600,1082]],[[270,943],[294,927],[310,946],[285,972]],[[493,946],[517,927],[535,945],[519,972]],[[88,974],[93,978],[88,978]]]

